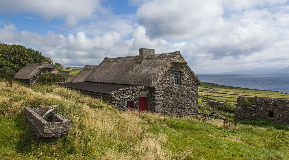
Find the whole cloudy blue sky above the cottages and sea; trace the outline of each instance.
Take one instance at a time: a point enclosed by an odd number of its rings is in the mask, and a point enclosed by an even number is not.
[[[64,66],[179,50],[197,74],[289,66],[287,0],[0,1],[0,42]]]

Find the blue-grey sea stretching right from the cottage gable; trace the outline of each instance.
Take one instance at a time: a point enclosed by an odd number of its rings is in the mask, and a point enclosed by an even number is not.
[[[197,74],[201,82],[289,94],[289,73],[272,74]]]

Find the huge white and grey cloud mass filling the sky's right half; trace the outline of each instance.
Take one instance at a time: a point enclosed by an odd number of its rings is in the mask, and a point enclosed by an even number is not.
[[[288,52],[281,49],[289,39],[285,3],[284,0],[151,0],[140,5],[136,15],[151,41],[160,38],[179,41],[170,47],[182,44],[179,49],[198,72],[260,65],[286,67]]]

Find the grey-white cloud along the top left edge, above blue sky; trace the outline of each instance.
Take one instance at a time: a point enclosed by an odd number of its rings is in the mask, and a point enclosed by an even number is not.
[[[100,0],[9,0],[0,1],[0,12],[39,14],[44,19],[64,18],[69,26],[92,18],[96,12],[106,12]]]

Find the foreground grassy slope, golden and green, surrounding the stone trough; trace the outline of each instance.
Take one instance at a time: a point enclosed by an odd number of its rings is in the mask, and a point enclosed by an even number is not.
[[[57,105],[71,131],[38,142],[21,112],[40,104]],[[285,125],[224,127],[222,120],[121,112],[54,85],[0,82],[0,110],[17,113],[0,116],[0,159],[289,159]]]

